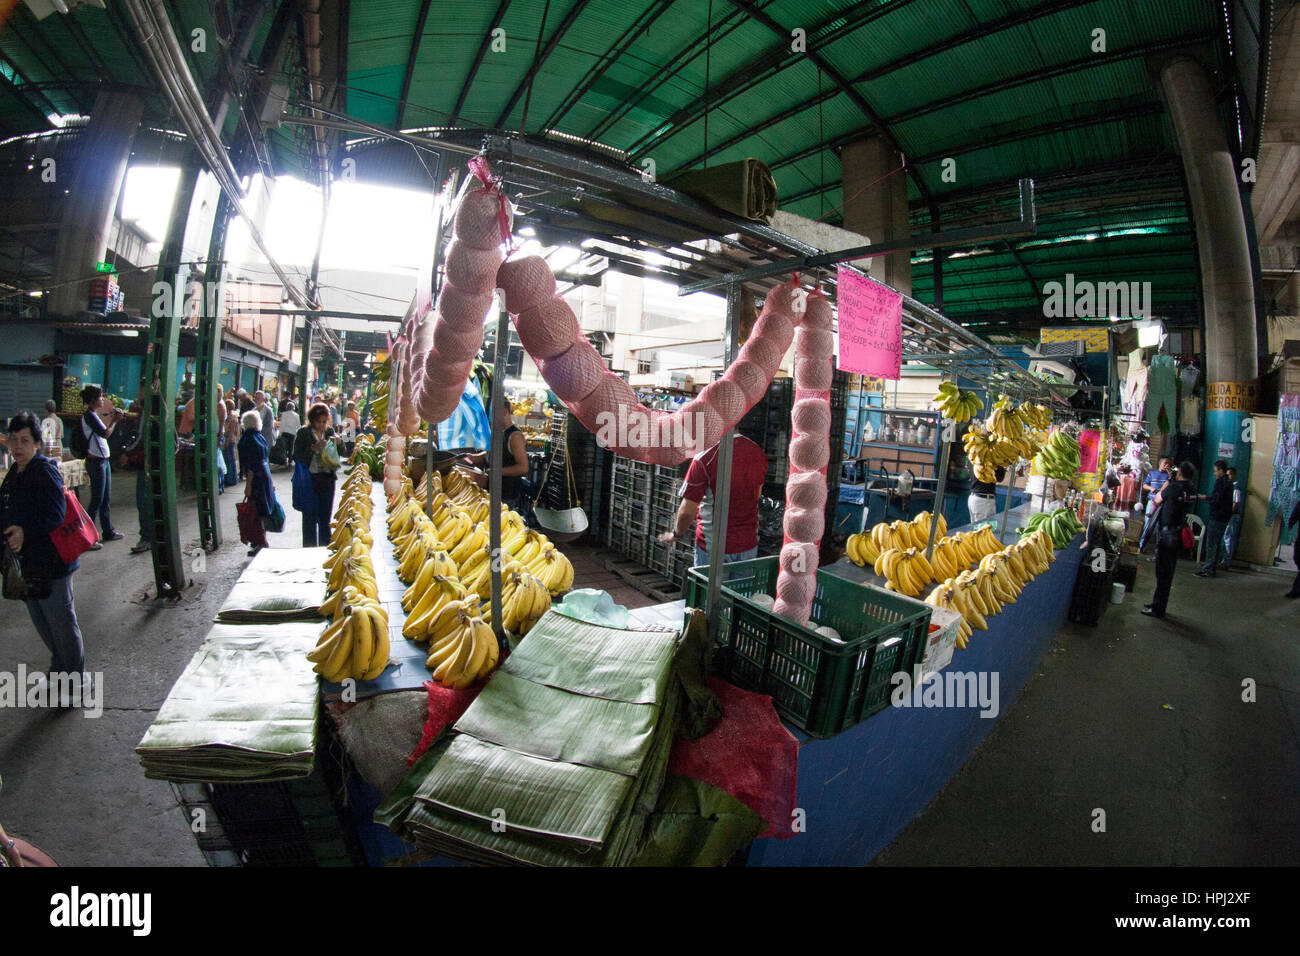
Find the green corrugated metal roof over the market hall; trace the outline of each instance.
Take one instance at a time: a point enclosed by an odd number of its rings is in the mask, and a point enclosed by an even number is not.
[[[208,0],[169,0],[168,7],[177,33],[203,27],[214,38]],[[462,96],[458,125],[494,126],[514,99],[503,125],[517,127],[541,33],[541,43],[554,42],[554,49],[528,95],[529,131],[552,122],[634,159],[650,156],[660,174],[757,156],[772,165],[783,208],[828,221],[838,221],[842,190],[838,153],[824,144],[870,133],[868,111],[883,118],[911,164],[909,196],[918,204],[923,191],[933,198],[944,226],[980,209],[1014,217],[1014,181],[1022,176],[1057,182],[1063,174],[1127,166],[1124,185],[1135,195],[1123,203],[1113,199],[1113,189],[1095,185],[1043,190],[1043,208],[1052,211],[1040,215],[1040,233],[1078,233],[1089,221],[1105,233],[1174,220],[1178,228],[1158,239],[1124,234],[1087,243],[1095,247],[1088,256],[1101,255],[1108,268],[1161,274],[1171,295],[1195,299],[1187,212],[1167,190],[1175,147],[1145,53],[1191,42],[1212,69],[1222,70],[1217,0],[719,0],[711,30],[707,5],[696,0],[551,0],[545,30],[545,0],[437,0],[416,43],[421,7],[422,0],[348,5],[348,113],[395,125],[411,64],[406,127],[447,124]],[[506,51],[489,51],[474,66],[499,8]],[[326,14],[334,9],[326,0]],[[796,27],[807,33],[809,53],[820,65],[790,51]],[[1105,30],[1104,53],[1092,48],[1097,27]],[[20,78],[0,90],[0,131],[40,129],[47,101],[60,112],[84,112],[101,75],[152,86],[124,35],[129,29],[117,9],[82,7],[38,23],[17,4],[0,29],[0,55]],[[190,55],[200,86],[212,81],[216,62],[212,55]],[[22,101],[38,96],[31,85],[43,98],[36,109]],[[166,118],[165,99],[155,92],[147,121]],[[281,168],[300,161],[300,133],[285,127],[270,138]],[[702,159],[707,147],[716,152]],[[956,182],[941,177],[949,155],[958,164]],[[1152,164],[1164,191],[1144,199],[1140,186]],[[993,187],[996,203],[971,202]],[[1074,200],[1086,211],[1066,208]],[[926,209],[914,225],[930,228]],[[1020,250],[1035,280],[1075,255],[1078,243]],[[914,287],[922,298],[930,281],[930,264],[918,264]],[[945,261],[944,300],[957,311],[994,302],[1027,307],[1032,282],[1006,250],[993,250]]]

